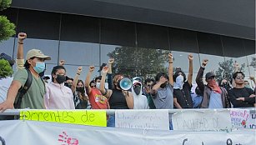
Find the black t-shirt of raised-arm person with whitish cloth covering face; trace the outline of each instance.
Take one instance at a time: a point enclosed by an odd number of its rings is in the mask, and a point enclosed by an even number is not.
[[[177,98],[177,102],[182,108],[193,108],[192,97],[190,94],[191,87],[192,86],[190,86],[188,82],[184,82],[183,89],[173,89],[173,97]]]

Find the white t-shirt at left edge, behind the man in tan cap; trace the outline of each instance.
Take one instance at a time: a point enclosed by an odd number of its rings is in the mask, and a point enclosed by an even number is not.
[[[13,82],[13,77],[6,77],[0,79],[0,103],[6,100],[8,96],[8,89]]]

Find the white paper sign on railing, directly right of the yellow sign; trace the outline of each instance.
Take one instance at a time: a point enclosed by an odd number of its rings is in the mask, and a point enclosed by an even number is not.
[[[168,130],[168,110],[117,110],[116,128]]]

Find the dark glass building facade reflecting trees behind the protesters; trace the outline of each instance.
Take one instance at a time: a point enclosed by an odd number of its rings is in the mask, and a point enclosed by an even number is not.
[[[50,74],[58,61],[65,60],[68,76],[73,77],[79,66],[85,79],[88,67],[99,67],[115,58],[114,73],[128,77],[154,77],[167,72],[168,52],[173,53],[173,67],[181,67],[188,74],[188,54],[193,54],[193,83],[204,58],[208,58],[205,72],[214,71],[218,77],[230,77],[233,63],[238,62],[248,79],[255,75],[255,41],[205,32],[168,28],[144,23],[132,23],[107,18],[93,18],[64,13],[49,13],[8,8],[0,14],[26,32],[24,52],[41,49],[52,57],[47,62]],[[16,36],[0,43],[0,52],[13,58],[17,55]],[[15,67],[15,66],[14,66]],[[252,82],[250,82],[252,83]]]

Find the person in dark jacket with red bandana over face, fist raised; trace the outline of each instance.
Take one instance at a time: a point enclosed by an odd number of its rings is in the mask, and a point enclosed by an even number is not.
[[[219,87],[214,72],[207,72],[205,81],[207,85],[203,84],[203,72],[208,64],[208,59],[203,59],[202,66],[199,68],[196,82],[198,88],[203,92],[203,100],[200,108],[229,108],[231,107],[228,92],[224,87]]]

